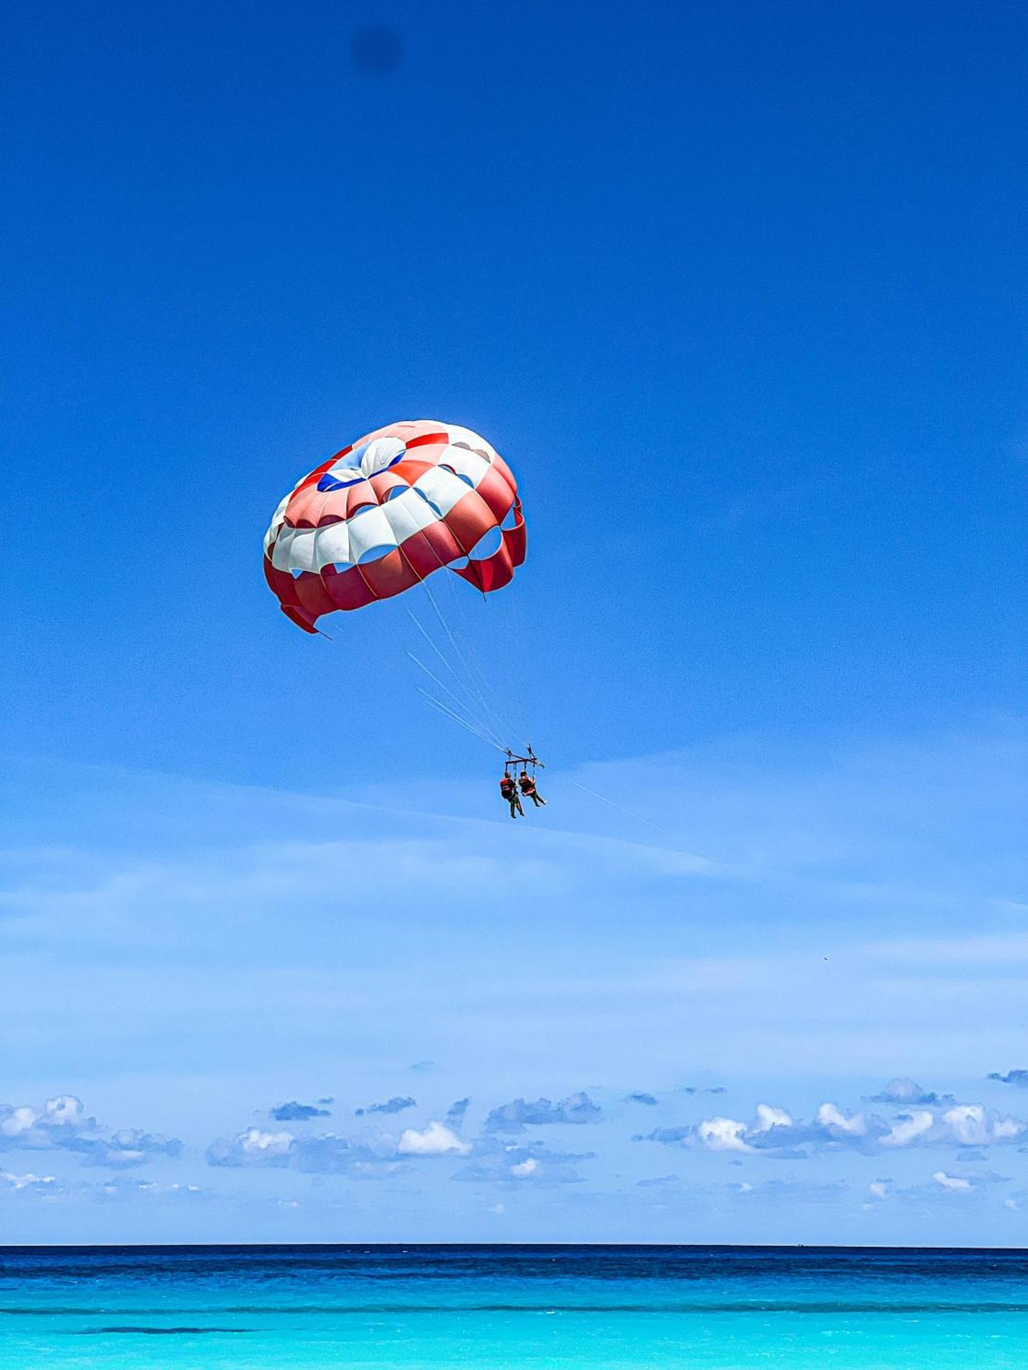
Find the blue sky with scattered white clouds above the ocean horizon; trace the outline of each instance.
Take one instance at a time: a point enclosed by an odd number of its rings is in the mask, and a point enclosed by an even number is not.
[[[1023,1240],[1025,27],[15,7],[8,1240]],[[524,825],[260,574],[418,416]]]

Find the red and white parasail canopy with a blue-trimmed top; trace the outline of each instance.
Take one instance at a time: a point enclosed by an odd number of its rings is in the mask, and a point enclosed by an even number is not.
[[[265,537],[265,575],[307,633],[456,571],[482,593],[525,560],[518,486],[485,438],[454,423],[389,423],[322,462],[286,495]]]

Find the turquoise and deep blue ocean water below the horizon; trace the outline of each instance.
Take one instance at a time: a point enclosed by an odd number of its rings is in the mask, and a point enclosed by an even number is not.
[[[1028,1366],[1028,1252],[0,1249],[21,1367]]]

